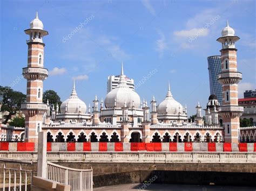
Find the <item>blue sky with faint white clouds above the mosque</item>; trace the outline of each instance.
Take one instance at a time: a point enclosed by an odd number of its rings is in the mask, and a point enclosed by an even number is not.
[[[44,90],[57,91],[62,101],[71,93],[73,77],[87,105],[95,94],[104,99],[107,76],[120,74],[123,61],[125,75],[135,83],[157,71],[136,89],[141,99],[150,102],[154,95],[159,104],[170,80],[173,97],[192,115],[198,101],[206,107],[207,56],[220,54],[216,39],[227,19],[241,38],[236,44],[243,74],[239,96],[256,88],[255,1],[239,0],[1,1],[1,86],[18,79],[13,88],[25,93],[26,81],[19,80],[27,65],[24,30],[36,11],[49,32],[44,66],[50,75]],[[80,23],[85,24],[72,33]]]

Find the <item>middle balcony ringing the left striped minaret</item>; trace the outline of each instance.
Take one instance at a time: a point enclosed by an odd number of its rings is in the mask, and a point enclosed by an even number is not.
[[[48,77],[48,69],[27,67],[22,69],[22,74],[26,80],[45,80]]]

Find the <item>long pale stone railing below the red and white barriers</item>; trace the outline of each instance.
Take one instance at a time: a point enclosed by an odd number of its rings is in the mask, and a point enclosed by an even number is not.
[[[36,161],[36,152],[0,152],[0,158]],[[256,152],[48,152],[52,162],[256,164]]]

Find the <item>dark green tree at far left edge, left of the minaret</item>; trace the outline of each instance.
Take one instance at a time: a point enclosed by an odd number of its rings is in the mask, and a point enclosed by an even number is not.
[[[10,87],[0,86],[0,97],[2,98],[1,111],[8,111],[7,115],[4,115],[4,122],[6,124],[12,115],[15,115],[17,111],[21,110],[21,104],[26,101],[26,95],[20,91],[15,91]]]

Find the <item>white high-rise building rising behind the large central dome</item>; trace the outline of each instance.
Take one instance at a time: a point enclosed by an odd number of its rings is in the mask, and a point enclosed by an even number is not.
[[[122,70],[123,70],[123,63],[122,63]],[[116,88],[118,85],[118,82],[120,80],[120,75],[117,76],[108,76],[107,77],[107,93],[109,93],[112,89]],[[126,84],[129,88],[134,90],[134,81],[133,79],[130,79],[129,77],[125,77]]]

